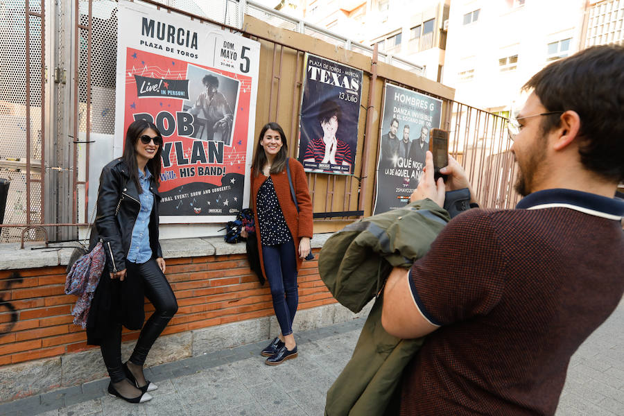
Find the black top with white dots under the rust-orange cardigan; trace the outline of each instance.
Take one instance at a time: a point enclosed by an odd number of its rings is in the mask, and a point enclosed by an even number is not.
[[[260,243],[262,245],[278,245],[291,241],[291,232],[288,230],[284,213],[281,212],[277,193],[273,187],[271,177],[260,185],[256,197],[258,222],[260,225]]]

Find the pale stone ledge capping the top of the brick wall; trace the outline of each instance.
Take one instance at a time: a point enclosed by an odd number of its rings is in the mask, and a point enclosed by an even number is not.
[[[312,248],[321,248],[332,234],[314,234],[311,240]],[[46,248],[43,242],[33,241],[25,243],[24,249],[20,249],[19,243],[2,243],[0,244],[0,270],[67,266],[73,248],[78,247],[78,245],[78,241],[70,241],[68,243],[51,243]],[[225,243],[223,236],[161,240],[160,245],[165,259],[221,256],[246,252],[245,243]]]

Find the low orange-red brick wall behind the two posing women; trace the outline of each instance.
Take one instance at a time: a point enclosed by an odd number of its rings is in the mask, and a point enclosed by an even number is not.
[[[316,257],[318,257],[318,251]],[[177,314],[163,334],[273,315],[268,283],[260,286],[245,254],[167,259]],[[331,304],[316,261],[299,272],[299,309]],[[94,348],[72,323],[73,295],[64,295],[64,266],[0,271],[0,365]],[[154,310],[146,300],[146,315]],[[124,330],[123,340],[139,331]]]

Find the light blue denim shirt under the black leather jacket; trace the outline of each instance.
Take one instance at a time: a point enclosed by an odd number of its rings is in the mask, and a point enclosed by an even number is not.
[[[154,207],[154,195],[150,191],[150,177],[152,174],[146,168],[144,175],[139,169],[139,183],[143,189],[143,193],[139,193],[141,201],[141,209],[139,216],[135,221],[135,227],[132,228],[132,241],[130,241],[130,250],[128,250],[128,261],[132,263],[145,263],[152,258],[152,249],[150,248],[150,214]]]

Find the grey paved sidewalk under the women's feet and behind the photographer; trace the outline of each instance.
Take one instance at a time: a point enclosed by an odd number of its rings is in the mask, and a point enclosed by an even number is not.
[[[108,379],[0,405],[0,415],[322,416],[325,394],[351,356],[364,320],[297,335],[299,357],[270,367],[268,340],[151,367],[154,399],[127,404],[106,392]],[[557,416],[624,415],[624,301],[570,363]]]

